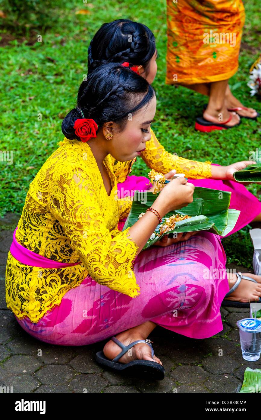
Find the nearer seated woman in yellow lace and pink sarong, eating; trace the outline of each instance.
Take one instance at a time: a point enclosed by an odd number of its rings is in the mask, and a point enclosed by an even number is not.
[[[150,84],[119,64],[99,66],[80,85],[77,108],[62,123],[66,139],[29,186],[8,253],[6,302],[41,341],[77,346],[113,336],[97,360],[117,368],[139,360],[163,379],[149,333],[156,325],[194,338],[220,332],[230,288],[226,271],[204,280],[205,270],[225,270],[217,235],[169,238],[169,246],[142,251],[166,213],[193,201],[186,178],[168,183],[131,228],[117,229],[123,213],[111,156],[132,160],[145,149],[155,108]],[[261,291],[251,283],[245,298],[253,300]],[[119,344],[133,349],[120,353]]]

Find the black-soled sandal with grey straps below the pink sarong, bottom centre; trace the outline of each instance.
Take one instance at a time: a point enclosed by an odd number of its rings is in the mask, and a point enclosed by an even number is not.
[[[108,367],[118,373],[126,373],[126,375],[139,377],[142,379],[154,379],[161,381],[164,379],[165,376],[165,369],[162,365],[157,362],[151,362],[150,360],[132,360],[129,363],[120,363],[118,360],[123,356],[131,347],[133,347],[137,343],[146,343],[149,344],[151,347],[151,357],[154,356],[154,350],[150,343],[150,339],[145,340],[137,340],[133,341],[128,346],[124,346],[119,340],[115,337],[112,337],[111,340],[114,343],[118,344],[122,348],[122,351],[118,354],[118,356],[114,357],[113,360],[108,359],[103,351],[96,353],[95,360],[102,366]]]

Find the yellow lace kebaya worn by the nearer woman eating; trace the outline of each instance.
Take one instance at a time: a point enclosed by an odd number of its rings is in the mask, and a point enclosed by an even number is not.
[[[16,240],[50,260],[75,263],[63,268],[25,265],[8,253],[6,302],[13,313],[34,322],[89,274],[110,289],[136,297],[133,261],[138,247],[129,229],[117,229],[125,217],[117,197],[111,156],[103,163],[111,180],[108,196],[88,143],[64,139],[29,185]],[[124,203],[123,203],[124,204]]]

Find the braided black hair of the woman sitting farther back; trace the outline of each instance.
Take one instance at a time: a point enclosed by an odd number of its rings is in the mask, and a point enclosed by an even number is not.
[[[147,66],[155,53],[155,37],[147,26],[129,19],[105,23],[96,32],[88,48],[88,72],[113,61],[131,66]]]

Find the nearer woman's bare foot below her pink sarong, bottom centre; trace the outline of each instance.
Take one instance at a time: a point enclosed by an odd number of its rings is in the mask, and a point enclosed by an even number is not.
[[[130,328],[127,331],[123,331],[122,333],[117,334],[115,337],[117,340],[121,341],[125,346],[128,346],[133,341],[137,340],[145,340],[147,338],[147,334],[142,331],[140,328],[141,325],[137,327]],[[121,347],[118,344],[114,343],[114,341],[110,340],[108,343],[105,344],[103,347],[104,355],[112,360],[114,357],[118,356],[122,351]],[[153,356],[151,357],[151,347],[146,343],[137,343],[134,344],[121,358],[118,360],[120,363],[129,363],[132,360],[151,360],[152,362],[157,362],[162,365],[160,359],[158,357]]]

